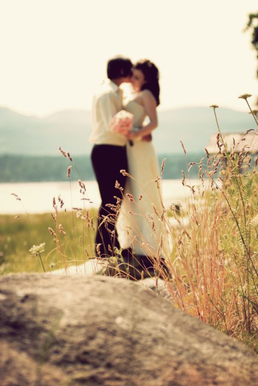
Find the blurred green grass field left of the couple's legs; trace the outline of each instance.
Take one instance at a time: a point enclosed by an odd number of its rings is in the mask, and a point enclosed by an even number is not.
[[[89,213],[95,219],[95,212]],[[62,224],[66,235],[59,231]],[[57,237],[49,232],[51,227]],[[56,241],[54,241],[56,239]],[[57,213],[57,226],[50,213],[37,215],[0,216],[0,274],[10,272],[43,272],[62,268],[65,265],[82,263],[87,254],[92,255],[91,245],[94,231],[87,220],[76,218],[76,212]],[[33,245],[46,243],[45,251],[33,256],[29,249]]]

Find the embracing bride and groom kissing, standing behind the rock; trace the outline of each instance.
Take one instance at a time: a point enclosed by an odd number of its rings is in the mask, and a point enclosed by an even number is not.
[[[130,84],[125,95],[124,83]],[[127,268],[137,267],[134,279],[143,276],[143,270],[154,275],[166,249],[166,216],[152,143],[159,94],[154,63],[140,60],[133,65],[130,59],[115,57],[107,63],[107,78],[92,105],[91,161],[101,197],[96,253],[109,261],[116,256]],[[111,126],[121,111],[132,117],[132,129],[126,133]]]

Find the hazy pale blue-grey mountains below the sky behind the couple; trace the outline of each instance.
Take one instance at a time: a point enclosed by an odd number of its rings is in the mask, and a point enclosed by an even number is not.
[[[254,129],[247,113],[217,109],[222,133]],[[193,107],[159,112],[159,127],[154,132],[158,153],[179,153],[184,143],[188,152],[200,152],[217,132],[213,111],[208,107]],[[0,154],[57,155],[58,147],[71,154],[89,154],[91,133],[90,112],[66,110],[46,118],[24,116],[0,108]]]

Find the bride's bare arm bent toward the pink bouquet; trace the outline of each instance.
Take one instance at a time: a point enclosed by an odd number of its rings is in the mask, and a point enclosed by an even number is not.
[[[153,93],[150,90],[143,90],[141,94],[143,106],[150,119],[150,123],[137,132],[129,133],[129,139],[145,137],[146,135],[151,134],[151,132],[158,127],[158,117],[156,110],[157,102],[153,96]]]

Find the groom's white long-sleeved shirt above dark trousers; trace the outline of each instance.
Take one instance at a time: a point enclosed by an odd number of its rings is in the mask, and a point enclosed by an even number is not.
[[[105,79],[93,97],[91,110],[91,143],[124,146],[126,137],[110,130],[111,118],[122,110],[122,90],[110,79]]]

